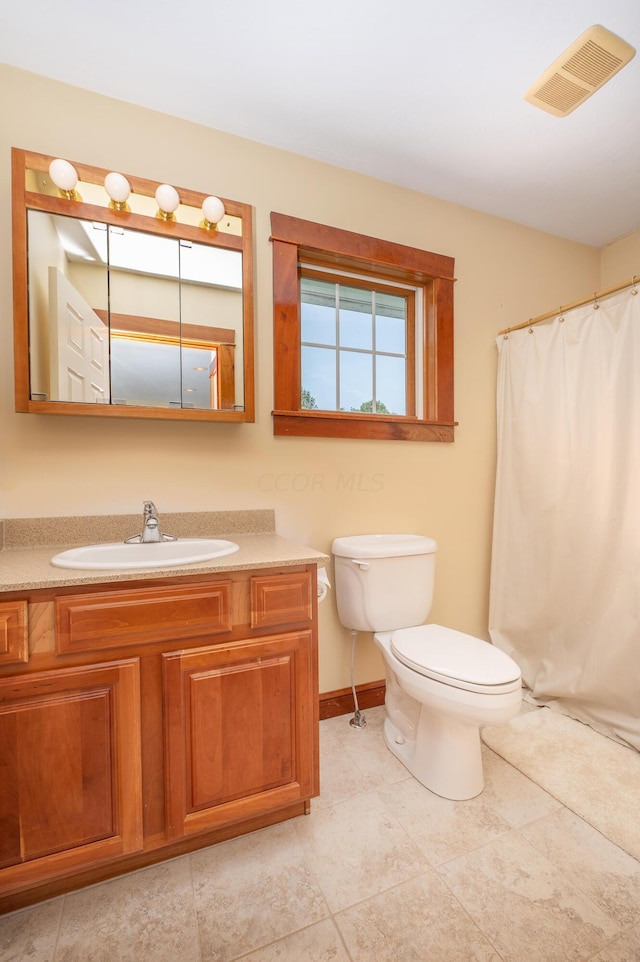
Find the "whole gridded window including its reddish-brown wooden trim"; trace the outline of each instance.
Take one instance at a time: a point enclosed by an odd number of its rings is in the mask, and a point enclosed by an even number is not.
[[[453,258],[271,215],[276,435],[452,441]]]

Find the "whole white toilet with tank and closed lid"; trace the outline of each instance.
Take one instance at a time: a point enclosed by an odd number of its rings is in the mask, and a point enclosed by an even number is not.
[[[336,538],[336,603],[341,624],[373,632],[384,658],[387,747],[430,791],[461,800],[484,788],[480,728],[517,715],[522,679],[489,642],[424,624],[436,551],[415,534]]]

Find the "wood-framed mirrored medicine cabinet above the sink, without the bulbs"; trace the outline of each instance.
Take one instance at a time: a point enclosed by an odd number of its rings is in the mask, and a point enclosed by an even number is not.
[[[211,229],[178,189],[168,220],[132,177],[113,209],[79,164],[60,196],[52,159],[13,150],[16,410],[253,421],[251,208],[223,200]]]

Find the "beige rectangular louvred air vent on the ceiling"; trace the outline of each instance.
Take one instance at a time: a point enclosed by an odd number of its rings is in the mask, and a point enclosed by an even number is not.
[[[635,50],[604,27],[589,27],[529,87],[524,99],[566,117],[629,63]]]

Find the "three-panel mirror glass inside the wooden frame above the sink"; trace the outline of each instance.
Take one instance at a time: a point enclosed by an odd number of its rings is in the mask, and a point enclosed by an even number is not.
[[[32,394],[242,406],[239,251],[43,211],[28,237]]]

